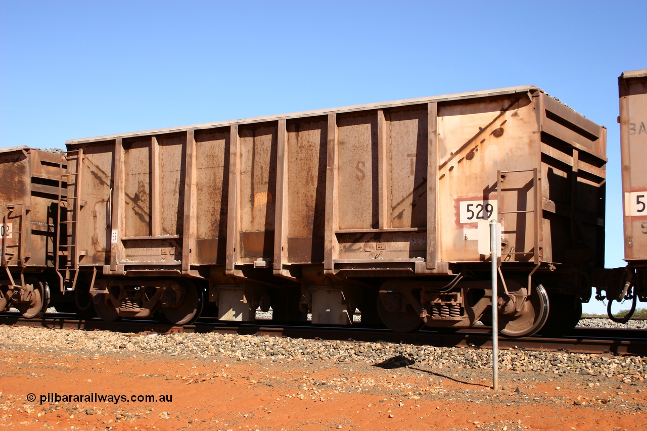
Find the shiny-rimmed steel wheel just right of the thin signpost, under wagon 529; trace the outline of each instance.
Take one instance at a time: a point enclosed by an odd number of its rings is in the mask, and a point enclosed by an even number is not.
[[[526,292],[521,287],[516,293]],[[501,335],[510,338],[527,337],[542,329],[548,318],[549,302],[546,289],[542,285],[534,285],[531,294],[523,300],[520,312],[514,316],[499,315]]]

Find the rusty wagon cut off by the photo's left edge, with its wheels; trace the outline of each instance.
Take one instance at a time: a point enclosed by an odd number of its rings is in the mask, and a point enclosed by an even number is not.
[[[27,146],[0,149],[0,311],[16,307],[35,318],[45,313],[50,300],[62,302],[55,267],[56,249],[65,240],[57,235],[64,172],[61,153]]]

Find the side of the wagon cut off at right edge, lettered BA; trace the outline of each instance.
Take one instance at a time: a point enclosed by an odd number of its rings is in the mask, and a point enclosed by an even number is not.
[[[647,259],[647,69],[618,78],[624,258]]]

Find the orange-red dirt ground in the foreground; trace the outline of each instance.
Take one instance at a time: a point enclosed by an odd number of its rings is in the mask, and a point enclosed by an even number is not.
[[[644,430],[647,382],[357,362],[0,348],[0,423],[19,430]],[[336,380],[333,380],[336,379]],[[325,384],[323,383],[325,382]],[[520,392],[520,393],[519,393]],[[28,393],[36,401],[26,400]],[[41,395],[171,396],[40,403]]]

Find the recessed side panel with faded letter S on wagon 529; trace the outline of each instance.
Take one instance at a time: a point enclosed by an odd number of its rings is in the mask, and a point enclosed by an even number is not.
[[[337,127],[339,228],[377,228],[377,113],[340,115]]]

